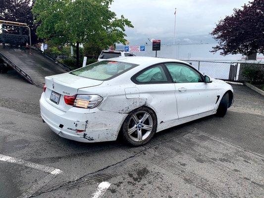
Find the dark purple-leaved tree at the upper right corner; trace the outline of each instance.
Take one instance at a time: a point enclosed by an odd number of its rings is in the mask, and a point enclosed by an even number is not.
[[[250,1],[242,9],[220,20],[211,32],[218,45],[211,52],[220,54],[264,53],[264,0]]]

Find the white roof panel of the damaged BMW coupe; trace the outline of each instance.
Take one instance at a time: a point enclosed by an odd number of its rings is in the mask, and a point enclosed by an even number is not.
[[[149,56],[126,56],[126,57],[109,58],[107,60],[134,63],[134,64],[138,64],[138,65],[141,65],[143,63],[158,64],[160,62],[181,62],[181,63],[186,63],[184,61],[177,60],[177,59],[157,58],[157,57],[149,57]]]

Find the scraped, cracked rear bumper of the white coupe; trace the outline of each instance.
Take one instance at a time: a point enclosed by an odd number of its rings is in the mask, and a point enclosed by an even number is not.
[[[78,142],[106,142],[117,138],[125,113],[72,107],[62,111],[50,104],[42,94],[41,117],[54,133]],[[78,130],[78,131],[77,131]]]

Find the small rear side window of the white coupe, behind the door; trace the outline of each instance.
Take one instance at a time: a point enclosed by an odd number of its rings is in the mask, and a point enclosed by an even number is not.
[[[161,65],[147,69],[136,77],[136,81],[141,83],[167,82],[167,77]]]

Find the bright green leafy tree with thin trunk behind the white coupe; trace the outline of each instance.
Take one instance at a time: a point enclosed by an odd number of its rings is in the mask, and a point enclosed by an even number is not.
[[[37,35],[58,45],[76,45],[79,67],[79,45],[94,43],[101,48],[125,44],[125,26],[131,22],[117,18],[109,10],[113,0],[36,0],[33,13],[40,22]]]

